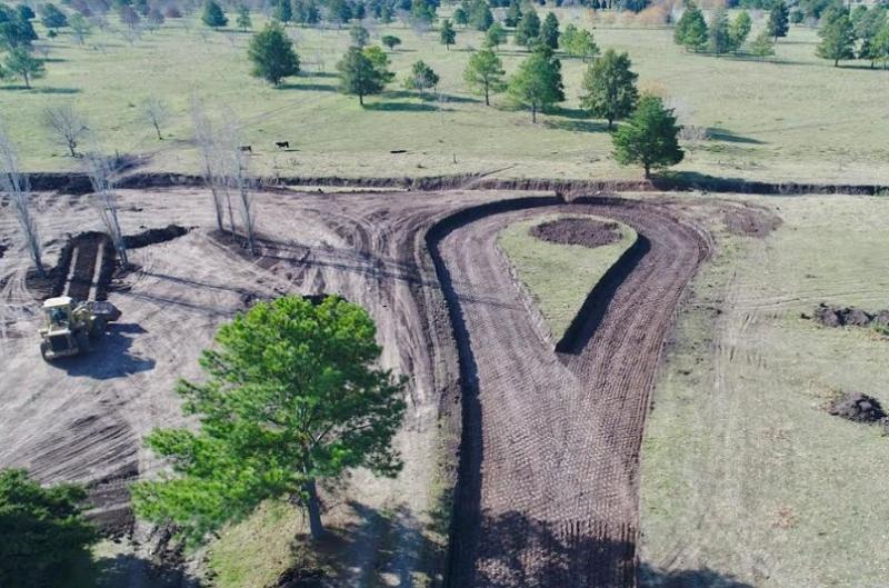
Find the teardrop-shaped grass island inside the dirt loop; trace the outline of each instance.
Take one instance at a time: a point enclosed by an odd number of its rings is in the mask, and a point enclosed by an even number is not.
[[[570,217],[553,215],[516,222],[503,229],[497,240],[543,315],[555,341],[562,338],[590,290],[637,239],[636,231],[622,223],[618,223],[619,241],[592,249],[551,243],[530,235],[535,225],[557,218]]]

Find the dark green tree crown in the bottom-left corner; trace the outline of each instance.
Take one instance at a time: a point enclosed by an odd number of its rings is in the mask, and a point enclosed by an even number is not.
[[[86,498],[77,485],[42,488],[24,470],[0,470],[0,586],[66,586],[97,540],[80,510]]]

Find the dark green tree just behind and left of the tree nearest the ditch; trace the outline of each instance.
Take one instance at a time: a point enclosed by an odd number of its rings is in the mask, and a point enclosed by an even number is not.
[[[606,119],[609,129],[636,109],[638,76],[631,67],[630,56],[609,49],[583,74],[580,106],[593,117]]]

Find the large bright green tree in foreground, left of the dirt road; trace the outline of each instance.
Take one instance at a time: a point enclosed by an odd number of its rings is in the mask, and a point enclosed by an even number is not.
[[[376,328],[363,309],[338,297],[279,298],[236,316],[214,340],[200,358],[207,380],[177,388],[199,430],[157,429],[147,438],[173,475],[132,487],[138,515],[199,540],[262,500],[297,497],[320,538],[319,480],[358,467],[399,471],[391,444],[404,382],[378,367]]]

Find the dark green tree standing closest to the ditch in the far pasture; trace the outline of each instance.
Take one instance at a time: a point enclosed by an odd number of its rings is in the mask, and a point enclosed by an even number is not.
[[[676,117],[656,96],[639,99],[636,111],[615,132],[612,141],[618,163],[642,166],[646,178],[651,177],[652,169],[675,166],[685,157]]]

